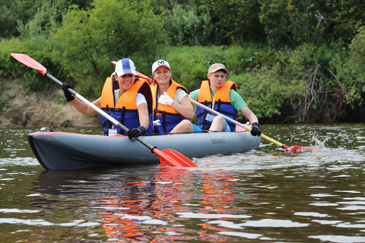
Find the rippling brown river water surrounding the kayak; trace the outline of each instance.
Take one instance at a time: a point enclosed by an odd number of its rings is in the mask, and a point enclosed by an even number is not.
[[[364,125],[262,125],[312,152],[68,171],[37,162],[38,129],[0,130],[0,242],[365,242]]]

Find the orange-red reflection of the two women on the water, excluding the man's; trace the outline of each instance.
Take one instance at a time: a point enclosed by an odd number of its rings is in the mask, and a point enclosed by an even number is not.
[[[158,177],[151,181],[141,181],[139,178],[135,178],[136,180],[124,182],[125,184],[122,186],[127,187],[119,189],[129,189],[131,191],[130,199],[123,200],[120,196],[114,195],[104,197],[102,204],[105,204],[108,209],[100,212],[102,215],[100,222],[103,223],[105,233],[110,238],[116,238],[115,241],[108,242],[146,242],[146,240],[149,242],[176,242],[176,240],[195,238],[188,235],[159,234],[159,232],[172,231],[178,232],[178,234],[193,232],[182,227],[157,227],[161,224],[142,224],[149,218],[164,220],[161,223],[170,220],[187,220],[175,217],[169,210],[166,210],[171,208],[174,212],[182,212],[188,209],[188,207],[179,208],[181,201],[187,199],[187,193],[183,191],[183,184],[180,183],[192,180],[185,169],[171,169],[161,168]],[[168,183],[167,187],[165,183]],[[143,187],[143,191],[132,192],[133,190],[131,190],[141,187]],[[142,197],[143,199],[141,199]]]

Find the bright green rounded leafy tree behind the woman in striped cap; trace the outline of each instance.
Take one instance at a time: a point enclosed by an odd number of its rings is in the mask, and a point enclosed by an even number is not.
[[[104,81],[112,72],[112,60],[138,56],[152,63],[160,46],[155,36],[162,30],[149,4],[96,0],[87,10],[73,6],[52,36],[54,59],[77,82],[85,77]],[[134,62],[138,67],[138,60]]]

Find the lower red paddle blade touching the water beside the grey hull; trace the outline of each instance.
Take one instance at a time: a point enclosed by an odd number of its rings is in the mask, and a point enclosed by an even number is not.
[[[198,167],[188,157],[173,150],[164,149],[162,151],[157,148],[152,149],[152,152],[160,157],[161,165],[176,166],[176,167]]]

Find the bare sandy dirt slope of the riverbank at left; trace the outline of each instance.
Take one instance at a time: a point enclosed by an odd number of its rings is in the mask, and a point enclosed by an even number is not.
[[[65,102],[61,89],[45,95],[27,91],[21,81],[1,82],[0,129],[100,126],[100,115],[82,115]]]

